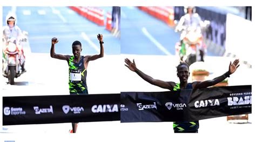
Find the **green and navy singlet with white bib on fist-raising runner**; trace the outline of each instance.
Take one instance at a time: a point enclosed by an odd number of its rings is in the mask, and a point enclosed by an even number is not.
[[[71,56],[69,59],[69,92],[70,94],[88,94],[86,85],[87,70],[84,68],[84,56],[78,63],[74,63]]]

